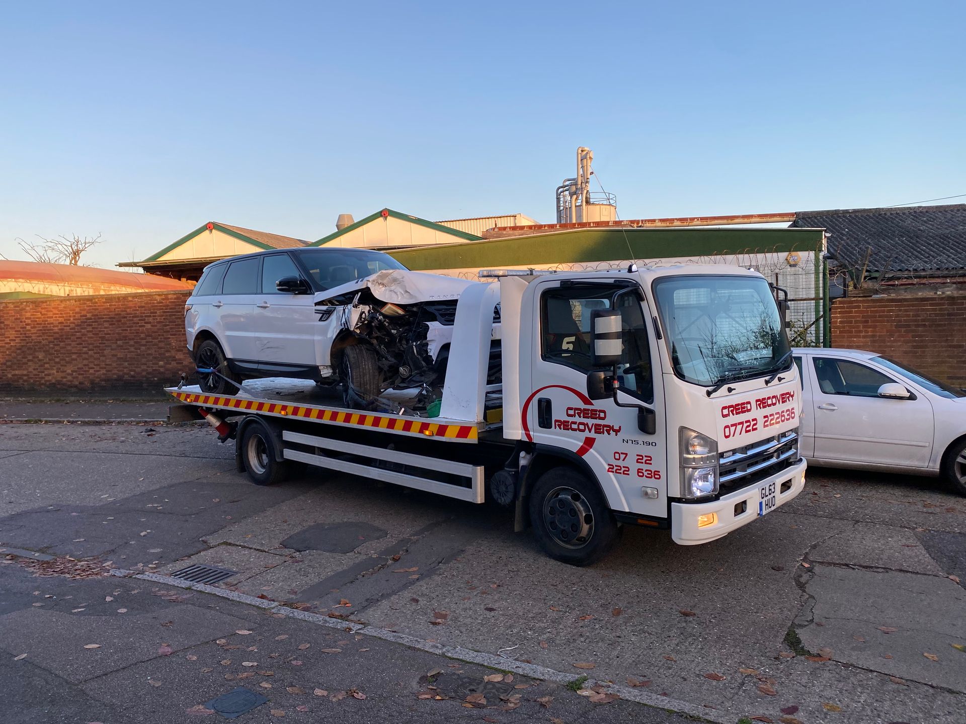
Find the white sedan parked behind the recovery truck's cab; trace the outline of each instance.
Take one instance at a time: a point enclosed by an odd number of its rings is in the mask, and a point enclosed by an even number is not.
[[[966,392],[874,352],[793,352],[810,465],[941,475],[966,495]]]

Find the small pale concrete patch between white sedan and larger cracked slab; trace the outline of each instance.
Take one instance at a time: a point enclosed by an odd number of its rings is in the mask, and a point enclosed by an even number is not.
[[[809,560],[929,575],[943,572],[913,531],[872,523],[856,523],[853,528],[820,543],[810,551]]]

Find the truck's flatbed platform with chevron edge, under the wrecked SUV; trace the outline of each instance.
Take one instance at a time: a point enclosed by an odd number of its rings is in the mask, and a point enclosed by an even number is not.
[[[341,406],[333,390],[302,379],[267,378],[246,380],[236,395],[209,395],[198,385],[167,387],[165,392],[183,404],[228,412],[257,412],[270,417],[327,423],[346,428],[367,428],[452,442],[478,441],[483,422],[442,417],[368,412]],[[391,398],[390,398],[391,399]]]

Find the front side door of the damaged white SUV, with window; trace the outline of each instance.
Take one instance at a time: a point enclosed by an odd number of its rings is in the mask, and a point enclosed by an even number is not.
[[[255,328],[259,372],[266,375],[316,367],[315,314],[311,292],[279,292],[275,282],[283,277],[303,277],[285,252],[262,257],[261,292],[255,302]],[[306,281],[306,286],[308,282]],[[309,288],[310,289],[310,288]]]

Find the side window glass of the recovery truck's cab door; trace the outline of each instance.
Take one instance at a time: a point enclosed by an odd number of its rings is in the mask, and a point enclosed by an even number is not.
[[[654,401],[654,379],[647,327],[639,292],[611,285],[555,288],[540,302],[541,348],[547,362],[593,370],[590,355],[590,317],[595,309],[620,312],[624,353],[617,365],[620,389],[646,403]]]

